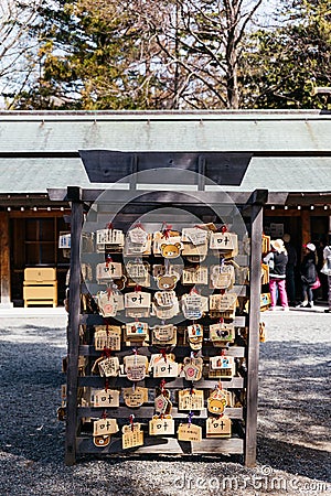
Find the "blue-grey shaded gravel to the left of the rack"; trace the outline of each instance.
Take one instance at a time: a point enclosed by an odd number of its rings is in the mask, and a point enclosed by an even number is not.
[[[44,328],[31,328],[44,335]],[[56,409],[65,349],[51,343],[38,343],[38,335],[33,343],[0,342],[0,449],[32,462],[63,460],[64,427]]]

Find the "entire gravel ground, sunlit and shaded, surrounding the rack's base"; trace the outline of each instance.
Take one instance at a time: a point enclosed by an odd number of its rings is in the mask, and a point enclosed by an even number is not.
[[[1,315],[0,495],[331,495],[330,319],[321,309],[263,314],[255,468],[196,456],[67,467],[56,420],[65,316]]]

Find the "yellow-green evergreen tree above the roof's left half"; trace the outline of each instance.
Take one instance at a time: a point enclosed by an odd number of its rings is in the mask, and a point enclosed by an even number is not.
[[[104,6],[104,8],[102,8]],[[106,8],[107,7],[107,8]],[[145,43],[118,2],[57,1],[40,9],[34,35],[41,75],[17,108],[147,108],[154,75],[147,74]]]

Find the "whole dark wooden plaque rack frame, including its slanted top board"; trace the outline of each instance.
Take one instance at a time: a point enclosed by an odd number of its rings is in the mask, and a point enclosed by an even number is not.
[[[207,181],[214,184],[222,184],[225,177],[227,184],[241,184],[245,174],[247,164],[252,158],[250,153],[231,154],[231,153],[168,153],[168,152],[113,152],[105,150],[83,151],[81,152],[86,172],[92,182],[97,183],[116,183],[117,181],[127,182],[128,190],[116,188],[113,184],[111,190],[106,190],[108,195],[108,204],[100,203],[95,206],[94,202],[103,195],[105,190],[82,190],[79,187],[68,187],[65,190],[50,190],[51,200],[66,200],[72,205],[71,216],[71,281],[70,281],[70,315],[68,315],[68,355],[66,367],[66,403],[65,403],[65,463],[72,465],[77,456],[87,453],[97,455],[111,454],[236,454],[244,455],[247,466],[254,466],[256,462],[256,427],[257,427],[257,385],[258,385],[258,349],[259,349],[259,321],[260,321],[260,280],[261,280],[261,238],[263,238],[263,206],[268,202],[273,204],[281,204],[286,200],[286,195],[268,194],[266,190],[255,192],[223,192],[223,191],[205,191]],[[228,163],[232,164],[231,174]],[[166,176],[166,183],[177,184],[180,182],[178,177],[184,179],[182,184],[192,184],[191,177],[186,181],[188,170],[195,171],[196,191],[194,193],[175,193],[171,191],[157,191],[162,184],[160,180],[160,171],[162,168],[172,168],[170,175]],[[158,169],[159,168],[159,169]],[[168,169],[169,171],[169,169]],[[140,186],[139,173],[147,172],[141,183],[153,184],[147,191]],[[137,175],[138,173],[138,175]],[[178,174],[179,175],[178,175]],[[131,175],[128,175],[131,174]],[[127,180],[124,180],[127,176]],[[159,181],[159,182],[158,182]],[[224,183],[223,183],[224,184]],[[185,187],[183,187],[185,191]],[[94,205],[93,205],[94,204]],[[93,208],[90,206],[93,205]],[[139,408],[128,408],[122,398],[120,398],[119,407],[107,408],[106,414],[109,419],[116,419],[119,428],[128,423],[131,413],[135,414],[135,421],[139,421],[143,425],[145,440],[143,445],[135,449],[122,450],[121,434],[111,435],[110,443],[105,446],[95,446],[93,443],[92,425],[93,419],[100,419],[102,411],[93,405],[82,402],[82,391],[88,387],[104,387],[105,378],[90,375],[90,367],[95,358],[100,356],[100,352],[96,352],[93,346],[94,326],[100,323],[105,324],[103,316],[98,312],[90,311],[88,305],[83,305],[82,298],[85,300],[84,293],[97,291],[97,284],[93,283],[89,288],[85,288],[81,280],[81,249],[82,244],[86,241],[85,233],[82,229],[86,213],[90,209],[89,215],[95,217],[96,224],[98,217],[107,218],[107,213],[117,212],[116,228],[124,231],[128,226],[139,220],[143,214],[153,208],[162,207],[181,208],[194,213],[202,223],[214,222],[220,223],[220,216],[215,214],[218,206],[222,212],[226,212],[231,219],[234,213],[234,206],[239,211],[241,216],[245,220],[245,225],[249,236],[249,256],[246,256],[247,267],[241,272],[247,273],[249,270],[249,283],[246,281],[238,289],[239,309],[235,316],[236,341],[233,346],[228,347],[227,354],[242,360],[245,358],[246,371],[236,368],[236,374],[231,379],[222,379],[224,389],[235,392],[239,402],[226,407],[227,414],[233,422],[232,436],[229,439],[206,439],[203,432],[201,442],[179,441],[177,435],[171,436],[151,436],[148,434],[148,420],[154,413],[152,396],[149,396]],[[216,208],[216,211],[215,211]],[[222,215],[223,216],[223,215]],[[108,219],[109,222],[109,219]],[[159,218],[159,223],[162,219]],[[103,226],[105,227],[105,225]],[[90,260],[95,261],[96,254],[90,254]],[[241,263],[239,263],[241,266]],[[98,282],[98,281],[96,281]],[[243,284],[243,281],[239,282]],[[247,304],[248,301],[248,304]],[[248,310],[247,310],[248,309]],[[210,324],[209,315],[202,320],[203,325]],[[188,325],[184,322],[183,325]],[[82,333],[83,328],[83,333]],[[130,354],[122,343],[120,352],[115,354],[119,360],[124,356]],[[149,355],[151,352],[149,346],[139,349],[140,354]],[[190,347],[185,342],[179,339],[175,348],[177,362],[190,354]],[[217,355],[217,352],[211,343],[204,343],[202,349],[205,360],[209,356]],[[209,375],[203,374],[203,378],[194,382],[194,388],[204,390],[204,406],[206,407],[207,393],[215,387],[216,379],[209,379]],[[149,392],[154,391],[159,387],[160,379],[156,379],[148,375],[138,386],[146,387]],[[108,387],[120,389],[132,385],[121,370],[115,378],[109,378]],[[186,381],[182,377],[167,379],[167,389],[171,395],[177,389],[192,387],[191,381]],[[175,425],[181,421],[185,421],[186,411],[180,411],[177,405],[175,396],[171,414],[175,421]],[[207,409],[203,408],[199,413],[194,412],[193,421],[204,425],[207,418]]]

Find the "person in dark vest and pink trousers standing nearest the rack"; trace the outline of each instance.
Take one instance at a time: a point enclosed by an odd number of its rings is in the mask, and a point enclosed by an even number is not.
[[[275,239],[270,241],[271,251],[264,258],[264,262],[269,266],[269,290],[271,306],[275,310],[277,304],[277,289],[279,292],[280,304],[282,310],[288,310],[288,299],[286,293],[286,265],[287,251],[282,239]]]

